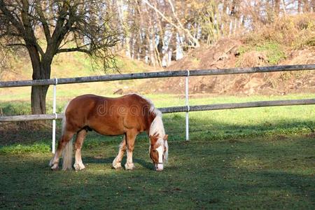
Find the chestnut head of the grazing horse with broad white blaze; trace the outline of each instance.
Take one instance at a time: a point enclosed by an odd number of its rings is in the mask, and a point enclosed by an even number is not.
[[[153,161],[156,171],[163,170],[163,162],[166,162],[168,158],[169,146],[167,144],[167,137],[167,134],[164,137],[160,137],[159,134],[150,136],[150,158]]]

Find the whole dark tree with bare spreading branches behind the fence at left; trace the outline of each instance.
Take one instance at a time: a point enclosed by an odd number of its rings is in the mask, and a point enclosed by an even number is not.
[[[6,47],[26,48],[33,80],[50,78],[52,59],[62,52],[84,52],[113,61],[118,43],[115,13],[101,0],[0,0],[0,38]],[[48,85],[31,87],[31,112],[45,113]]]

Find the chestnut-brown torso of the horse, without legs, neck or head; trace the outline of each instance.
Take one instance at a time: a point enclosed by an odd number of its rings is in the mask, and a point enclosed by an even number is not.
[[[71,130],[90,127],[101,134],[123,134],[127,129],[146,129],[144,107],[150,103],[138,94],[118,98],[84,94],[69,102],[65,111]],[[134,115],[130,114],[134,112]],[[137,112],[137,113],[136,113]]]

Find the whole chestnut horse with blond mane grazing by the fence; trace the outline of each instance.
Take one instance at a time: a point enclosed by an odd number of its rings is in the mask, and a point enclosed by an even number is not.
[[[76,171],[85,169],[81,148],[88,131],[109,136],[124,135],[118,155],[113,160],[113,168],[122,168],[121,161],[127,150],[127,170],[134,169],[132,152],[137,134],[146,132],[151,143],[149,153],[154,169],[163,170],[164,162],[168,158],[168,135],[165,134],[162,113],[150,99],[139,94],[127,94],[117,98],[84,94],[72,99],[64,108],[62,137],[49,164],[52,170],[58,169],[60,155],[63,156],[62,169],[72,169],[74,134],[76,142],[73,167]]]

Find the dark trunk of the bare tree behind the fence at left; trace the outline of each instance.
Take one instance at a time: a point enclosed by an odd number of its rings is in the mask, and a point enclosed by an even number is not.
[[[29,56],[31,57],[31,66],[33,68],[33,80],[50,78],[50,64],[52,59],[43,57],[41,60],[38,50],[35,46],[28,46]],[[46,94],[49,85],[31,87],[31,113],[46,113]]]

